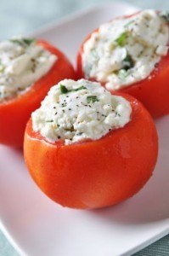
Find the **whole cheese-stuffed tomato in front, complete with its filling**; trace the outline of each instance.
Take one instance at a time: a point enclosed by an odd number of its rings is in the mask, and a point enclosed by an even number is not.
[[[31,177],[64,207],[126,200],[152,175],[157,152],[155,125],[143,105],[85,79],[55,85],[25,129]]]

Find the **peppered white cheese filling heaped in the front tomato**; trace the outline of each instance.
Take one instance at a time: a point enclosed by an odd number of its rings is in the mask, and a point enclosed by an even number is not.
[[[122,128],[131,119],[130,103],[113,96],[99,83],[65,79],[53,86],[31,114],[34,131],[48,142],[65,144],[98,140],[111,130]]]

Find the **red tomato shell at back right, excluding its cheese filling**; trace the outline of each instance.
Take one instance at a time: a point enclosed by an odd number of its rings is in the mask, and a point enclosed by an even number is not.
[[[138,13],[137,13],[138,14]],[[135,14],[136,15],[136,14]],[[128,16],[126,16],[128,17]],[[94,32],[97,32],[95,30]],[[82,70],[82,54],[85,42],[91,38],[91,34],[87,36],[83,42],[81,49],[77,55],[77,76],[78,79],[85,78]],[[90,80],[97,81],[95,78]],[[104,86],[104,83],[102,83]],[[136,97],[149,110],[153,117],[160,117],[169,113],[169,52],[161,58],[161,61],[156,65],[154,71],[150,73],[147,79],[131,84],[126,88],[118,90],[128,93]]]

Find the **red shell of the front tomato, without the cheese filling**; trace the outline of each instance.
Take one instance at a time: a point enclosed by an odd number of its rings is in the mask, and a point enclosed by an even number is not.
[[[158,154],[155,125],[132,96],[132,119],[97,141],[48,143],[25,129],[25,163],[40,189],[64,207],[109,207],[138,192],[152,175]]]

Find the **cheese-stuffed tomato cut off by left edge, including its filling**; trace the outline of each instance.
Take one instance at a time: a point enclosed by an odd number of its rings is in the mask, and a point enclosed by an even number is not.
[[[31,112],[50,87],[74,79],[65,55],[45,41],[16,38],[0,43],[0,143],[20,147]]]

